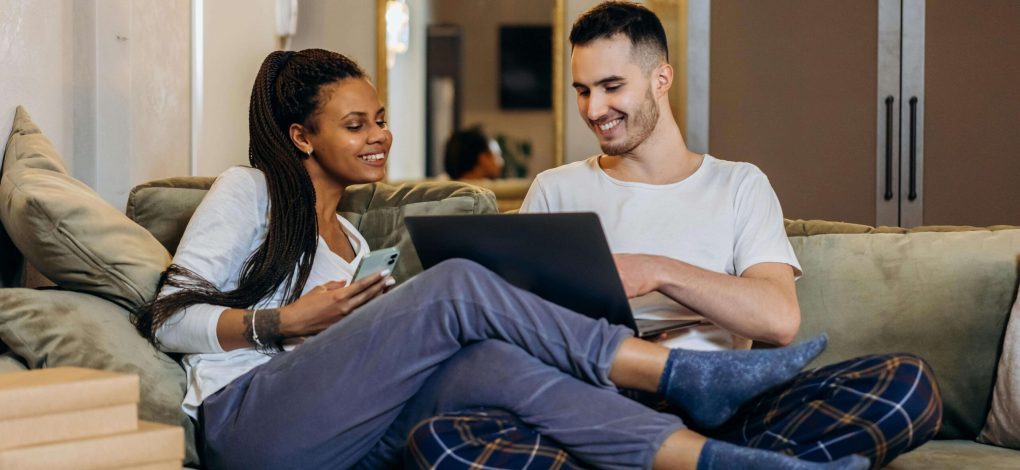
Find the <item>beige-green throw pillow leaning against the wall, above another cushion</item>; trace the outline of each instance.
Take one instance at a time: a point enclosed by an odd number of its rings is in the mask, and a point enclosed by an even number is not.
[[[155,295],[170,262],[145,228],[64,171],[20,108],[0,179],[0,222],[26,260],[57,285],[129,310]]]

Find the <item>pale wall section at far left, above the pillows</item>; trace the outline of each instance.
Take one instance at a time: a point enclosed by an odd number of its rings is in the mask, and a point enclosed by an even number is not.
[[[189,2],[3,0],[3,128],[22,104],[71,173],[114,207],[187,171]]]

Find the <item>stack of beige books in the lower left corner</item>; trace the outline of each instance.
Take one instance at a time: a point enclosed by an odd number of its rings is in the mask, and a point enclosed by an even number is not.
[[[180,470],[184,429],[138,419],[138,375],[76,367],[0,374],[0,470]]]

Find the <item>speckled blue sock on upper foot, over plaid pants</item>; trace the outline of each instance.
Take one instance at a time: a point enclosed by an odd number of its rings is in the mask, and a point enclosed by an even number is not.
[[[794,378],[825,349],[824,333],[770,350],[672,350],[659,395],[679,407],[696,426],[718,427],[748,400]]]

